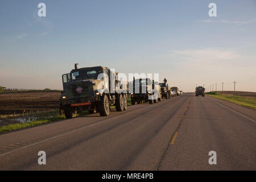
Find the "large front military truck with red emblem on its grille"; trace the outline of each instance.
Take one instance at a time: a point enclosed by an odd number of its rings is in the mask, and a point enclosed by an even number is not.
[[[82,110],[106,116],[110,105],[117,111],[127,110],[127,82],[119,81],[118,73],[107,67],[77,68],[75,64],[75,69],[64,74],[62,80],[60,111],[66,118],[74,118]]]

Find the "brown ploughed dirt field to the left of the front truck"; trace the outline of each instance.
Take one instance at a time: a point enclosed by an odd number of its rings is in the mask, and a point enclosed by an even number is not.
[[[59,98],[60,91],[53,90],[0,93],[0,114],[59,109]]]

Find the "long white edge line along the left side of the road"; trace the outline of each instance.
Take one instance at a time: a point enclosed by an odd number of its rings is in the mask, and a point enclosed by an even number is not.
[[[145,108],[147,108],[147,107],[152,107],[152,106],[155,106],[155,104],[149,105],[149,106],[146,106],[146,107],[141,107],[140,109],[137,109],[137,110],[134,110],[134,111],[138,111],[138,110],[145,109]],[[99,125],[100,123],[107,122],[107,121],[109,121],[110,119],[122,117],[123,115],[129,114],[129,113],[132,113],[132,112],[133,112],[133,111],[130,111],[130,112],[125,113],[125,114],[120,114],[120,115],[117,115],[116,117],[112,117],[112,118],[106,119],[106,120],[104,120],[104,121],[100,121],[100,122],[94,123],[94,124],[92,124],[92,125],[88,125],[88,126],[85,126],[85,127],[81,127],[80,129],[72,130],[72,131],[69,131],[69,132],[67,132],[67,133],[64,133],[64,134],[61,134],[61,135],[57,135],[57,136],[55,136],[55,137],[51,137],[51,138],[48,138],[48,139],[45,139],[45,140],[42,140],[42,141],[39,141],[39,142],[36,142],[36,143],[29,144],[28,146],[16,148],[15,150],[12,150],[12,151],[9,151],[9,152],[0,154],[0,156],[7,155],[7,154],[10,154],[10,153],[15,152],[15,151],[22,150],[22,149],[24,149],[24,148],[28,148],[28,147],[31,147],[31,146],[35,146],[36,144],[43,143],[43,142],[47,142],[48,140],[52,140],[52,139],[55,139],[55,138],[58,138],[58,137],[62,137],[62,136],[64,136],[64,135],[68,135],[68,134],[74,133],[74,132],[76,132],[76,131],[84,130],[84,129],[88,128],[88,127],[92,127],[92,126],[95,126],[95,125]]]

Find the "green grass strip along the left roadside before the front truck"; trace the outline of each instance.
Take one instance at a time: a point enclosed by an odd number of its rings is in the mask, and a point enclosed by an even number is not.
[[[47,119],[42,119],[38,121],[31,121],[31,122],[25,122],[25,123],[15,123],[15,124],[10,124],[10,125],[5,125],[5,126],[0,126],[0,133],[4,133],[7,131],[13,131],[13,130],[19,130],[19,129],[24,129],[26,127],[32,127],[32,126],[38,126],[42,125],[43,123],[48,123],[52,121],[59,121],[61,119],[64,119],[64,115],[57,115],[52,118],[47,118]]]

